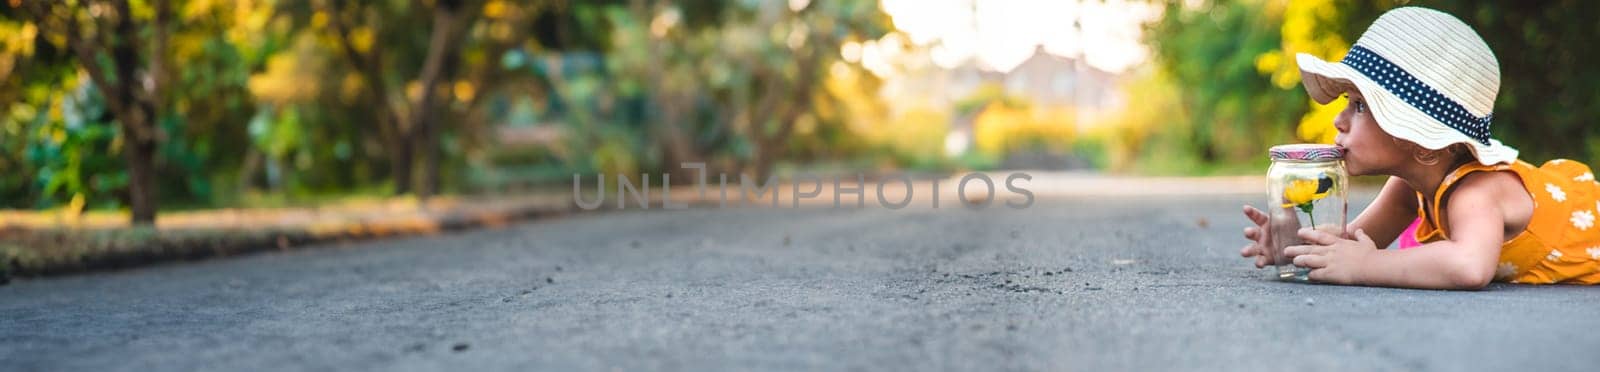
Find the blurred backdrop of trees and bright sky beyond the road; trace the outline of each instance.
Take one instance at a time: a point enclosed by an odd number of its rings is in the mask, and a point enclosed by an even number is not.
[[[1331,141],[1294,53],[1406,2],[0,3],[0,207],[541,192],[571,175],[1250,175]],[[1494,135],[1600,152],[1592,2],[1414,2],[1483,34]],[[682,178],[678,178],[682,180]]]

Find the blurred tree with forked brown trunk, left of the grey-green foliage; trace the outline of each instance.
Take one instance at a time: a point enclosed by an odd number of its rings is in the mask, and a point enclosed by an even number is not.
[[[272,107],[251,120],[259,149],[245,173],[259,183],[266,170],[290,194],[387,180],[384,192],[432,196],[453,186],[459,160],[494,144],[490,123],[507,106],[547,93],[520,69],[530,53],[605,35],[603,24],[574,22],[571,2],[461,2],[448,18],[435,6],[448,3],[280,3],[294,42],[251,77]]]

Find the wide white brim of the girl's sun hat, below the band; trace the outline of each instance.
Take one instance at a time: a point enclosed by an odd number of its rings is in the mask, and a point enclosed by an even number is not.
[[[1454,128],[1445,127],[1445,123],[1411,107],[1405,99],[1389,93],[1389,90],[1384,90],[1350,66],[1322,61],[1322,58],[1306,53],[1294,55],[1294,61],[1301,69],[1301,85],[1306,87],[1310,99],[1318,104],[1328,104],[1354,87],[1366,98],[1366,106],[1371,107],[1373,117],[1378,119],[1378,127],[1390,136],[1413,141],[1427,149],[1443,149],[1450,144],[1466,143],[1472,149],[1472,156],[1483,165],[1517,160],[1517,149],[1501,144],[1501,141],[1493,138],[1490,144],[1483,144]]]

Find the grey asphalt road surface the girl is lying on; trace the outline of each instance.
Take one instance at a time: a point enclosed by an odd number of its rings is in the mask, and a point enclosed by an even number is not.
[[[1256,199],[632,210],[29,279],[0,369],[1600,369],[1600,289],[1267,281]]]

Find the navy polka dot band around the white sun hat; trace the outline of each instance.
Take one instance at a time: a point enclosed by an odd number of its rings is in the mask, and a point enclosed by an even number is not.
[[[1422,80],[1411,77],[1405,69],[1389,63],[1382,56],[1366,50],[1360,45],[1352,46],[1349,55],[1344,55],[1346,66],[1360,71],[1368,79],[1378,82],[1390,95],[1405,99],[1411,107],[1422,111],[1424,114],[1437,119],[1462,135],[1477,140],[1482,144],[1490,144],[1490,120],[1494,114],[1486,114],[1483,117],[1472,115],[1454,99],[1438,93]]]

